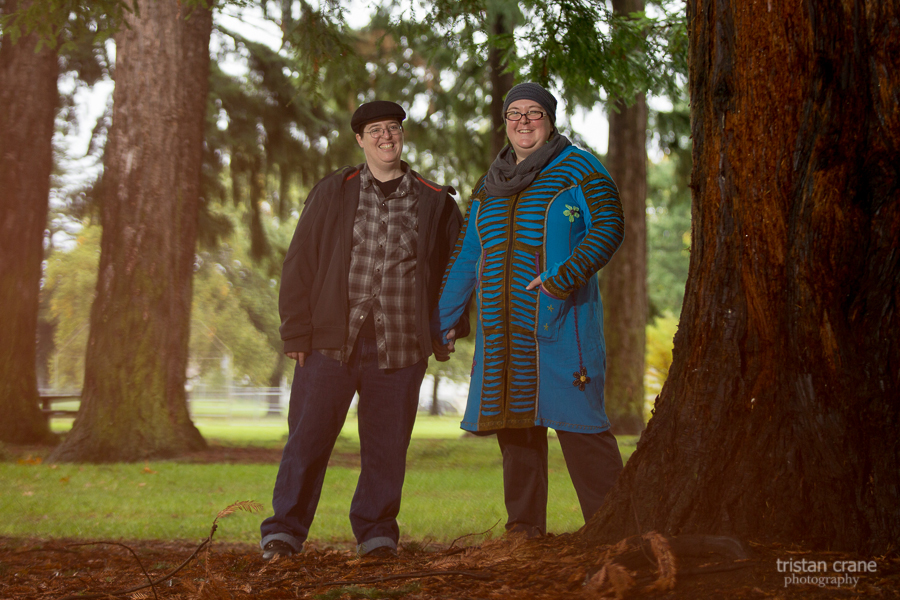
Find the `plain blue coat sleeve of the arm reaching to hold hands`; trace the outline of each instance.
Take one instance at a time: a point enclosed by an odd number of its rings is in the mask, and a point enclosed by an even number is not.
[[[446,334],[455,329],[465,318],[465,334],[468,335],[469,299],[475,289],[476,265],[481,256],[481,242],[478,239],[474,217],[478,212],[478,201],[474,200],[466,213],[462,231],[450,255],[444,278],[441,282],[441,296],[438,302],[438,331],[433,337],[440,337],[441,343],[447,343]],[[457,331],[457,338],[465,337]]]

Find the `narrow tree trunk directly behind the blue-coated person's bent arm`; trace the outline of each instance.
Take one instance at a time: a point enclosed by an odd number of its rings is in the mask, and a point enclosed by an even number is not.
[[[644,0],[613,0],[618,14],[644,10]],[[615,434],[644,429],[647,345],[647,100],[617,102],[609,116],[609,169],[625,213],[625,239],[603,269],[600,290],[606,337],[606,414]]]

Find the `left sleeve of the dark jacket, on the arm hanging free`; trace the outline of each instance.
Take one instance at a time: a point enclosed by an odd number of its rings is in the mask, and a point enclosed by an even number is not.
[[[309,292],[318,262],[319,238],[325,221],[328,195],[326,189],[329,187],[322,182],[310,192],[281,267],[278,312],[281,316],[279,331],[285,352],[312,351]]]

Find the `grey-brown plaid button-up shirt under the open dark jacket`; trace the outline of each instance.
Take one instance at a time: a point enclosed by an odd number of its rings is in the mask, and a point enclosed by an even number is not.
[[[348,361],[369,311],[375,321],[378,366],[401,369],[423,358],[416,335],[418,196],[412,170],[385,198],[368,165],[360,171],[348,279],[349,324],[342,350],[321,350]]]

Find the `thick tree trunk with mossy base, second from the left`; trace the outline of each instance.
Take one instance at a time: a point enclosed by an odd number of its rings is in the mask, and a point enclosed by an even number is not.
[[[134,461],[205,443],[184,390],[212,15],[142,0],[116,38],[103,240],[81,409],[52,460]]]

